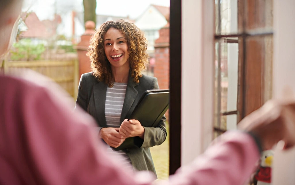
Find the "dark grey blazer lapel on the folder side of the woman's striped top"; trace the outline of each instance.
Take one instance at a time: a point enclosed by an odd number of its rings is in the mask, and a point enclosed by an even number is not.
[[[128,83],[127,83],[127,89],[126,89],[126,94],[125,94],[125,99],[123,103],[123,108],[122,108],[122,113],[121,113],[121,123],[124,121],[124,119],[127,116],[127,113],[129,112],[136,96],[137,96],[137,90],[136,86],[138,84],[133,81],[133,78],[131,75],[129,76]]]

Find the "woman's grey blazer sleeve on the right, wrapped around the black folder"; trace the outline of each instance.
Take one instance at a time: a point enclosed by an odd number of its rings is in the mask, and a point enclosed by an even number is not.
[[[152,86],[150,89],[159,89],[157,78],[153,80]],[[144,127],[145,137],[143,139],[143,143],[141,146],[142,148],[160,145],[165,141],[167,136],[165,122],[166,122],[166,117],[164,115],[156,127]]]

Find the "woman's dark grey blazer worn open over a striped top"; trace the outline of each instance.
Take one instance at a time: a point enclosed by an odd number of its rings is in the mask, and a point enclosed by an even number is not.
[[[81,76],[76,105],[78,104],[92,115],[99,127],[106,127],[104,114],[106,88],[107,85],[96,80],[91,73],[85,73]],[[121,122],[133,112],[143,92],[151,89],[159,89],[157,78],[142,75],[139,83],[135,83],[129,77],[121,113]],[[166,118],[164,116],[157,127],[145,127],[144,140],[141,139],[142,141],[139,142],[142,144],[139,146],[140,148],[125,150],[135,169],[148,170],[156,174],[149,148],[160,145],[165,141],[167,136],[165,121]]]

